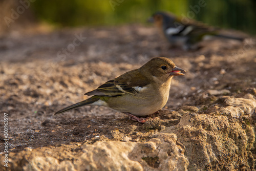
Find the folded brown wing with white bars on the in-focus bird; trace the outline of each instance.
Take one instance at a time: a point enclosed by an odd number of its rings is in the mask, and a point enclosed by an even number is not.
[[[84,95],[97,95],[105,97],[118,97],[125,94],[136,94],[143,91],[150,81],[139,73],[127,72],[115,79],[105,82],[96,90]]]

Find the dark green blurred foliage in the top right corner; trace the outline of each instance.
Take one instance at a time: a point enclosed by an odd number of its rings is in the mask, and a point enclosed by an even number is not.
[[[209,5],[202,8],[195,19],[212,26],[256,33],[255,0],[205,0],[205,2]],[[197,3],[198,0],[191,0],[189,6]]]

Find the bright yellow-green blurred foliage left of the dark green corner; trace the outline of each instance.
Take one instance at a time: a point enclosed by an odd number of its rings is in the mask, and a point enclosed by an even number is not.
[[[60,26],[145,23],[157,10],[186,12],[187,0],[55,0],[35,1],[38,18]]]

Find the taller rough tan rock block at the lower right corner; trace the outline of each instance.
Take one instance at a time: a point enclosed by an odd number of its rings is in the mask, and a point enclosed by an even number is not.
[[[255,142],[253,127],[227,116],[185,114],[175,127],[160,133],[175,133],[185,148],[188,170],[250,169],[250,150]]]

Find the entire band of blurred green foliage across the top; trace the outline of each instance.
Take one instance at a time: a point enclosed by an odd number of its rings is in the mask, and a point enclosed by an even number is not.
[[[60,27],[102,26],[146,23],[156,11],[187,16],[188,11],[194,12],[191,7],[200,1],[206,5],[195,12],[194,19],[255,33],[256,3],[253,0],[38,0],[32,7],[37,18]]]

